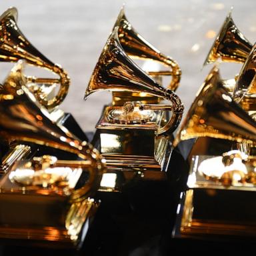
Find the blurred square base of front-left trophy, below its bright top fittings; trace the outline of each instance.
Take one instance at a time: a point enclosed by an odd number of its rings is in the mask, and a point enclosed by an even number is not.
[[[71,202],[56,188],[21,185],[11,181],[11,171],[0,179],[1,242],[81,247],[99,204],[89,198]]]

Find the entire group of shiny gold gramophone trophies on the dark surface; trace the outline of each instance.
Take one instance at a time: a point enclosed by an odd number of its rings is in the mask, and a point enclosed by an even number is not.
[[[85,92],[86,99],[113,91],[94,146],[59,109],[70,84],[67,72],[21,33],[17,9],[5,11],[0,22],[0,60],[15,62],[0,88],[1,239],[79,247],[99,207],[96,191],[119,193],[135,176],[171,179],[181,192],[173,237],[255,236],[256,50],[231,13],[205,64],[243,63],[241,72],[223,80],[215,65],[173,139],[183,116],[175,93],[181,70],[133,29],[121,9]],[[133,58],[167,70],[143,70]],[[25,63],[59,77],[24,75]],[[165,75],[171,76],[167,87]],[[177,155],[187,168],[179,168]]]

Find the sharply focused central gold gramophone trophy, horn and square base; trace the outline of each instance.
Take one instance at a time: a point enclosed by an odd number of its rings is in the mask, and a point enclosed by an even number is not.
[[[132,52],[140,57],[143,51],[149,59],[163,55],[153,47],[149,52],[143,47],[145,42],[140,41],[122,12],[117,23],[123,27],[113,29],[85,92],[86,99],[95,91],[113,91],[113,103],[105,107],[96,125],[99,150],[108,171],[163,177],[171,152],[171,133],[179,125],[183,104],[171,89],[159,85],[129,57]],[[173,83],[177,85],[178,81],[179,75],[174,76]],[[169,104],[160,104],[160,99]],[[172,113],[169,120],[165,118],[167,111]]]

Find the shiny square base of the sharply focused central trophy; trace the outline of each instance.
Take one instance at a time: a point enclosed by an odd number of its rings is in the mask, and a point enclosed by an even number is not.
[[[99,151],[107,160],[108,171],[155,171],[163,177],[171,155],[171,135],[156,136],[155,121],[145,123],[115,123],[108,118],[117,107],[105,107],[97,123]],[[164,113],[154,114],[161,120]],[[146,174],[145,174],[146,175]]]

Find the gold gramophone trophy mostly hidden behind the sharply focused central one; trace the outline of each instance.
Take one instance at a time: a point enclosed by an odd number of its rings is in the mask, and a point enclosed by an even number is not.
[[[171,81],[169,85],[167,85],[167,88],[175,91],[177,87],[179,87],[179,81],[181,79],[181,69],[179,65],[174,59],[155,49],[155,47],[135,31],[125,16],[124,7],[121,8],[113,29],[115,29],[115,27],[118,27],[117,35],[119,43],[125,53],[131,57],[131,59],[147,61],[146,64],[148,63],[149,67],[145,71],[160,85],[162,85],[163,76],[171,76]],[[156,63],[167,67],[168,70],[155,70],[154,64]],[[143,69],[144,67],[141,68]],[[143,101],[143,103],[157,104],[161,99],[151,94],[132,91],[113,91],[112,105],[121,106],[127,101]]]

